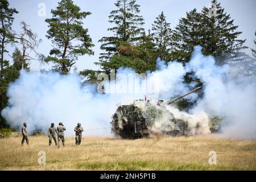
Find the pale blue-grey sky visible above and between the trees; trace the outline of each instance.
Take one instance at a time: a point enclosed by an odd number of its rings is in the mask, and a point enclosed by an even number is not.
[[[13,24],[13,30],[20,31],[20,22],[23,20],[31,27],[43,42],[38,48],[38,52],[44,55],[49,54],[51,49],[51,40],[46,38],[46,32],[48,30],[47,23],[44,22],[46,18],[51,18],[51,9],[55,9],[57,2],[53,0],[9,0],[10,7],[15,7],[19,11],[19,14],[15,15]],[[112,35],[107,29],[112,27],[108,22],[108,16],[110,11],[115,9],[115,0],[73,0],[73,2],[80,6],[82,11],[90,11],[92,14],[84,20],[84,27],[88,28],[89,35],[92,38],[95,46],[92,48],[94,56],[81,56],[75,64],[78,71],[83,69],[99,69],[98,66],[93,63],[98,60],[98,56],[101,53],[100,43],[98,40],[102,36]],[[156,16],[162,11],[166,15],[167,21],[171,23],[171,27],[174,28],[179,22],[179,18],[185,17],[186,11],[190,11],[193,8],[197,10],[203,9],[204,6],[209,7],[210,0],[137,0],[137,3],[141,5],[141,15],[144,18],[144,28],[148,30],[151,28],[152,22],[154,22]],[[241,39],[247,39],[245,46],[256,49],[253,40],[255,39],[254,32],[256,31],[256,1],[255,0],[219,0],[221,6],[225,8],[226,12],[234,19],[234,24],[238,25],[238,31],[242,31]],[[39,3],[46,5],[46,16],[39,16]],[[10,54],[13,52],[13,48],[9,48]],[[250,50],[246,51],[250,53]],[[6,56],[6,59],[11,59]],[[41,64],[38,61],[32,61],[31,69],[38,70],[43,68],[49,68],[47,64]]]

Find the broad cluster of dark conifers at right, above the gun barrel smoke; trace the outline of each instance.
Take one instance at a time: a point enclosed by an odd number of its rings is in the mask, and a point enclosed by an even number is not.
[[[200,45],[205,55],[212,55],[219,64],[223,64],[226,60],[238,59],[239,51],[247,48],[243,46],[245,40],[238,39],[242,32],[237,31],[234,20],[216,0],[212,4],[216,5],[216,9],[204,7],[201,13],[193,9],[186,18],[179,20],[174,31],[172,59],[185,64],[191,57],[193,47]],[[215,14],[210,14],[210,11]]]

